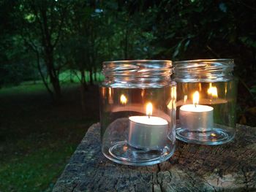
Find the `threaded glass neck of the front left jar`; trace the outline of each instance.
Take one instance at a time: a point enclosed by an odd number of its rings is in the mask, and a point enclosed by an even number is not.
[[[105,61],[102,72],[103,84],[111,87],[162,87],[169,84],[173,65],[167,60]]]

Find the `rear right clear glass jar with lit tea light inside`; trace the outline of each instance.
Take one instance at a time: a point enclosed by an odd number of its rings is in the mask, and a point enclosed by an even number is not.
[[[175,62],[177,139],[219,145],[234,138],[237,80],[233,67],[233,59]]]

